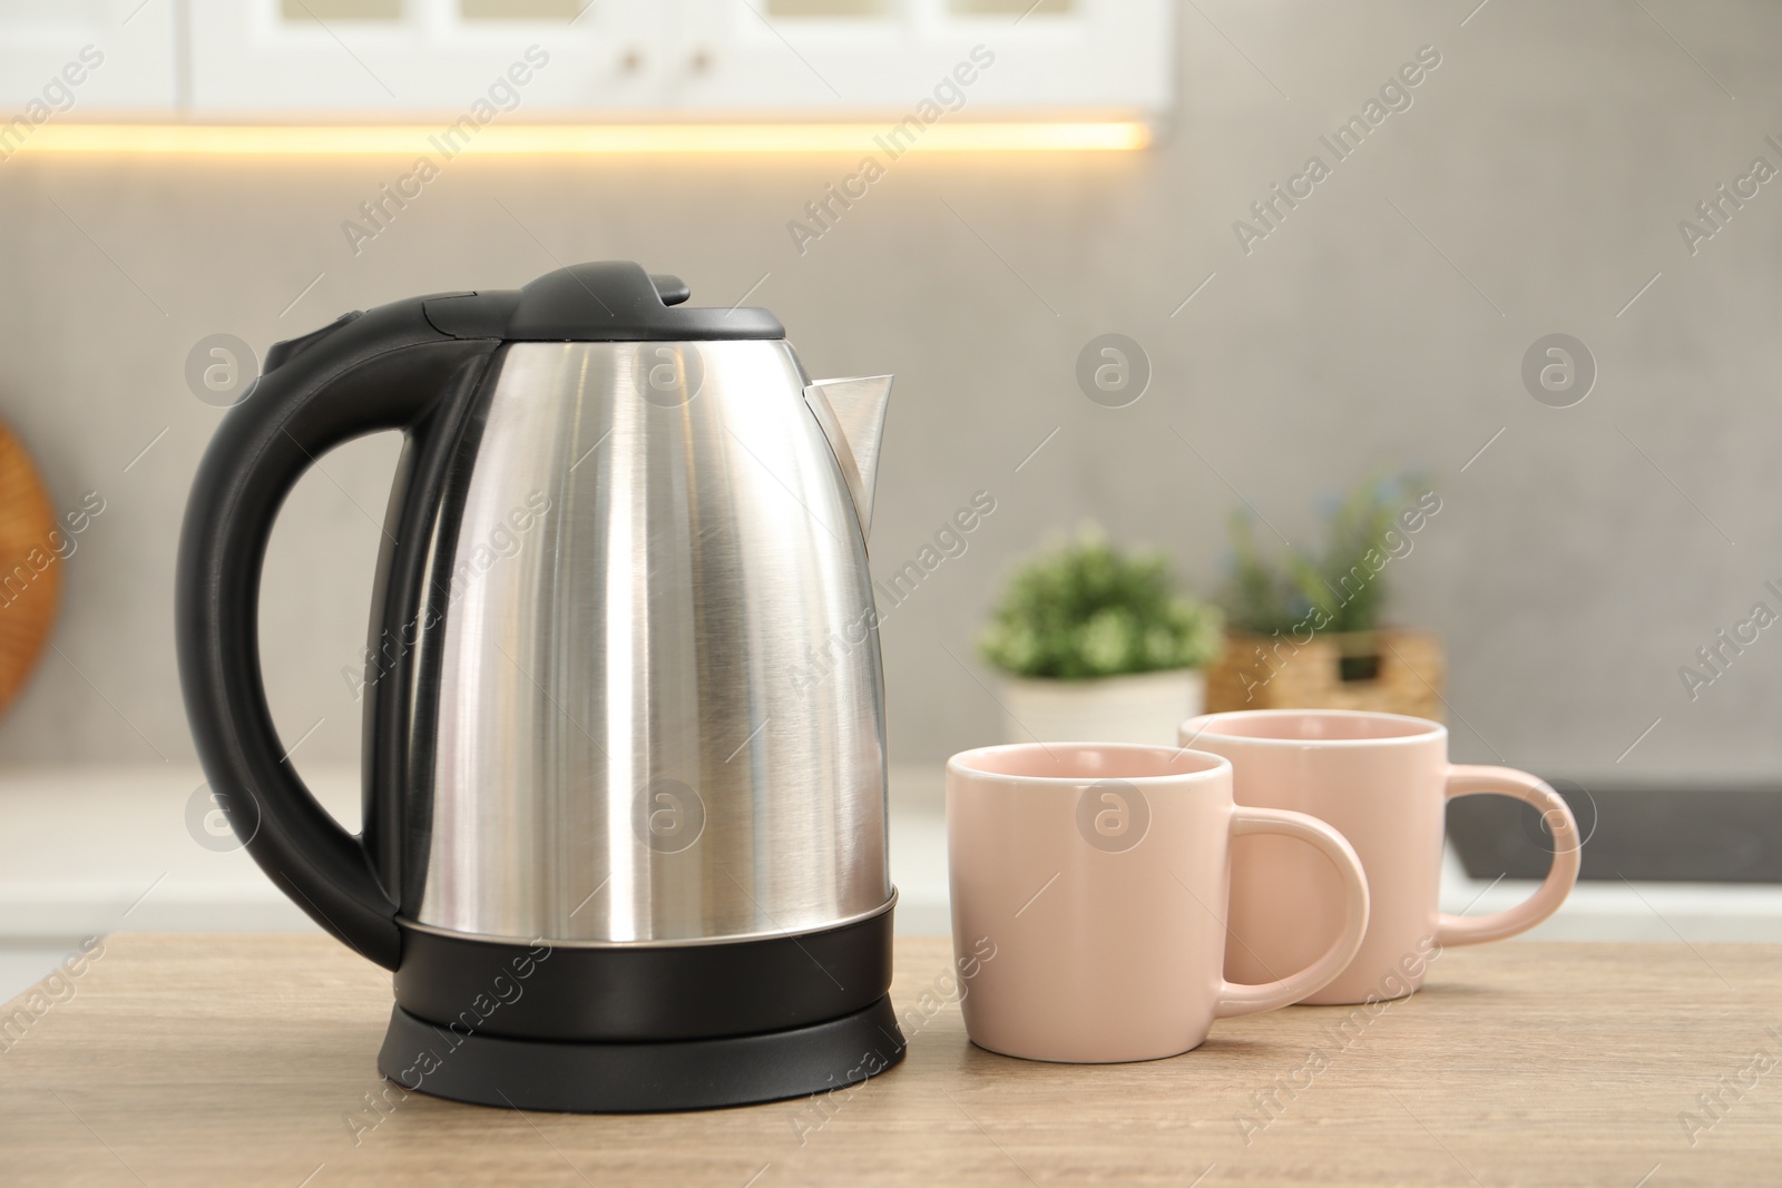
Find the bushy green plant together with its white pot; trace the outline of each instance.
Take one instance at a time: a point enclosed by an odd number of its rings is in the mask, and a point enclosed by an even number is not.
[[[1162,552],[1094,533],[1025,563],[980,641],[1005,736],[1042,743],[1174,743],[1219,647],[1219,611],[1176,590]]]

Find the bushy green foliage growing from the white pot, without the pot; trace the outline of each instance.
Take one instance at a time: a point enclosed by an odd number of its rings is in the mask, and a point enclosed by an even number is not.
[[[1201,668],[1221,614],[1178,593],[1162,552],[1121,552],[1096,533],[1023,565],[980,652],[1012,677],[1089,680]]]

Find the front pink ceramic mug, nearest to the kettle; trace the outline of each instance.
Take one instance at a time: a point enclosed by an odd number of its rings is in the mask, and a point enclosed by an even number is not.
[[[1224,980],[1231,837],[1312,842],[1342,885],[1322,953],[1262,985]],[[1292,841],[1288,841],[1292,839]],[[1176,1056],[1214,1019],[1296,1003],[1367,930],[1367,880],[1336,830],[1231,803],[1231,764],[1171,746],[985,746],[946,764],[953,949],[980,1047],[1105,1063]],[[1285,921],[1283,921],[1285,923]],[[985,955],[991,956],[985,956]]]

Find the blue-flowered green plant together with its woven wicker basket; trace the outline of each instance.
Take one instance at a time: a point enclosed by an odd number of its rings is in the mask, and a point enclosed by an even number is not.
[[[1418,493],[1422,492],[1422,493]],[[1208,675],[1214,712],[1377,709],[1440,718],[1443,654],[1429,632],[1383,625],[1390,566],[1442,511],[1413,476],[1369,476],[1329,513],[1317,556],[1263,554],[1255,525],[1231,518],[1231,632]]]

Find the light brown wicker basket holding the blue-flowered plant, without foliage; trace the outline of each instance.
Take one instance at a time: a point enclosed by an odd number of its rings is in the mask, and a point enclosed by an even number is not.
[[[1206,673],[1206,711],[1374,709],[1442,721],[1447,663],[1422,631],[1287,636],[1233,631]]]

